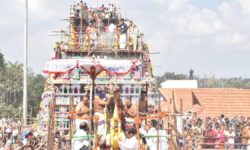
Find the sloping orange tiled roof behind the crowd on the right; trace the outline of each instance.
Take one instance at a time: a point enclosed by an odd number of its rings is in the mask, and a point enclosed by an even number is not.
[[[180,110],[179,99],[183,101],[183,110],[192,105],[203,106],[206,116],[250,116],[250,90],[246,89],[160,89],[165,99],[170,102],[174,93],[176,109]],[[169,108],[169,107],[167,107]],[[162,110],[168,110],[166,107]]]

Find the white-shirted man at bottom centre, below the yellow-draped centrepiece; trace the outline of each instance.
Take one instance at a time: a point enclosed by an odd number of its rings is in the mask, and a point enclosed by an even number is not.
[[[121,150],[138,150],[139,145],[138,140],[135,136],[135,129],[127,129],[125,136],[126,138],[123,141],[119,142],[119,148]]]

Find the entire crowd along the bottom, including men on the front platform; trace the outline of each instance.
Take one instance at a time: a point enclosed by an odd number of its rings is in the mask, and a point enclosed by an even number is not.
[[[91,119],[82,119],[90,116],[89,95],[82,97],[75,108],[75,133],[72,137],[72,149],[89,149],[95,142],[98,147],[119,148],[121,150],[142,149],[162,150],[169,148],[168,130],[157,119],[147,119],[140,122],[137,128],[135,117],[148,115],[147,95],[141,93],[137,105],[127,98],[120,98],[120,89],[115,88],[112,95],[103,91],[96,93],[92,114],[98,116],[98,122],[91,125]],[[117,118],[116,118],[117,117]],[[112,133],[112,119],[121,123],[121,131]],[[177,133],[176,143],[180,149],[250,149],[250,118],[244,116],[227,117],[221,114],[218,117],[199,118],[197,113],[189,112],[183,119],[183,132]],[[13,119],[0,120],[0,149],[34,149],[39,143],[39,137],[32,129],[22,129],[19,121]],[[97,131],[97,141],[92,136]],[[118,130],[117,130],[118,131]],[[139,135],[139,136],[138,136]],[[66,140],[64,134],[56,131],[54,138],[60,147]],[[112,137],[116,137],[112,141]],[[158,138],[159,137],[159,138]],[[89,142],[91,138],[92,142]],[[139,144],[140,143],[140,144]],[[61,146],[62,148],[62,146]]]

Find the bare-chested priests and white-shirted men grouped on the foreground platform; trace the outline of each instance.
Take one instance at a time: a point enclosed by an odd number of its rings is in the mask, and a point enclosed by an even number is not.
[[[98,147],[132,150],[138,149],[140,143],[151,150],[157,149],[157,145],[159,149],[167,149],[167,131],[162,129],[159,121],[142,120],[140,127],[136,127],[135,117],[145,117],[148,114],[147,108],[147,94],[144,91],[141,93],[137,106],[130,98],[121,100],[119,87],[114,88],[111,95],[98,91],[93,102],[93,112],[90,110],[89,96],[83,96],[75,110],[76,133],[72,139],[74,143],[72,149],[88,148],[90,146],[88,136],[93,134],[91,132],[93,128],[95,128],[93,131],[97,131]],[[90,116],[90,113],[99,118],[96,125],[92,127],[90,119],[84,119]],[[115,124],[116,121],[118,124]],[[157,144],[157,135],[161,136],[158,139],[159,144]]]

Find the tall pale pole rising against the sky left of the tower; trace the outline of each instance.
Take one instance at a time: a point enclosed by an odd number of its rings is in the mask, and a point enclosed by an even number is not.
[[[24,62],[23,62],[23,126],[27,125],[27,51],[28,51],[28,0],[25,0],[24,16]]]

